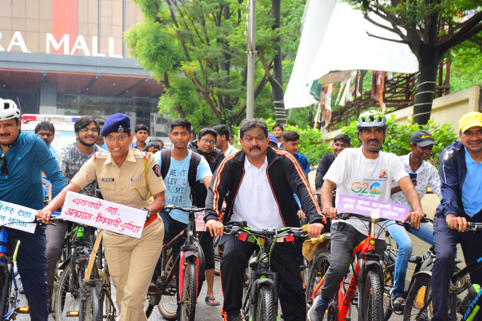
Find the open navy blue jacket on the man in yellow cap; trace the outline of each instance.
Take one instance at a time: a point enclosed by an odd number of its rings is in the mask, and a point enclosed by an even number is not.
[[[467,174],[465,147],[462,142],[455,142],[442,150],[439,174],[442,181],[442,202],[435,215],[445,217],[447,214],[455,214],[469,217],[462,204],[462,186]]]

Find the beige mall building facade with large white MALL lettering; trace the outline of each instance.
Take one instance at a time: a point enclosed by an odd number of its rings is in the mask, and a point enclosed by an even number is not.
[[[163,87],[129,55],[123,32],[140,22],[132,0],[0,0],[0,98],[23,113],[126,113],[167,136]]]

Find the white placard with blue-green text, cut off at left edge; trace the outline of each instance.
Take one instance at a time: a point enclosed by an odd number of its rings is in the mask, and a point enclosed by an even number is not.
[[[5,201],[0,201],[0,225],[19,229],[28,233],[34,233],[37,224],[29,224],[26,222],[33,222],[36,216],[37,210]]]

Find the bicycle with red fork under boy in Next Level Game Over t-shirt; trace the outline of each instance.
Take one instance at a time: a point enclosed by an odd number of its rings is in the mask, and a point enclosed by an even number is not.
[[[203,208],[196,207],[180,207],[175,205],[166,205],[166,211],[174,209],[187,212],[189,221],[187,227],[177,234],[171,241],[162,245],[162,253],[159,258],[159,269],[156,289],[149,288],[147,292],[148,306],[146,308],[146,316],[149,317],[153,308],[157,305],[159,312],[166,320],[175,320],[177,300],[176,300],[176,280],[175,272],[179,271],[179,287],[182,286],[179,298],[181,303],[181,320],[193,321],[196,311],[196,300],[201,292],[202,283],[204,282],[204,254],[198,241],[195,239],[195,213],[204,211]],[[179,243],[186,237],[186,242],[181,246],[181,252],[176,258],[173,258],[172,249],[175,244]],[[179,267],[179,262],[182,265]]]

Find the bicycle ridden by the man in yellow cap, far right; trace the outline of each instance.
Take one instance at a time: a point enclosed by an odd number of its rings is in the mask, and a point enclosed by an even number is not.
[[[482,223],[468,222],[467,231],[481,232]],[[476,307],[481,306],[481,302],[478,300],[482,295],[482,291],[477,294],[463,316],[457,314],[457,302],[459,301],[457,295],[461,294],[470,287],[470,281],[468,278],[469,273],[481,267],[482,257],[456,272],[452,277],[450,281],[450,293],[448,300],[449,321],[472,320],[477,314],[478,308]],[[414,274],[414,284],[408,293],[407,303],[403,313],[403,321],[431,320],[433,316],[431,277],[431,271],[421,271],[417,274]]]

